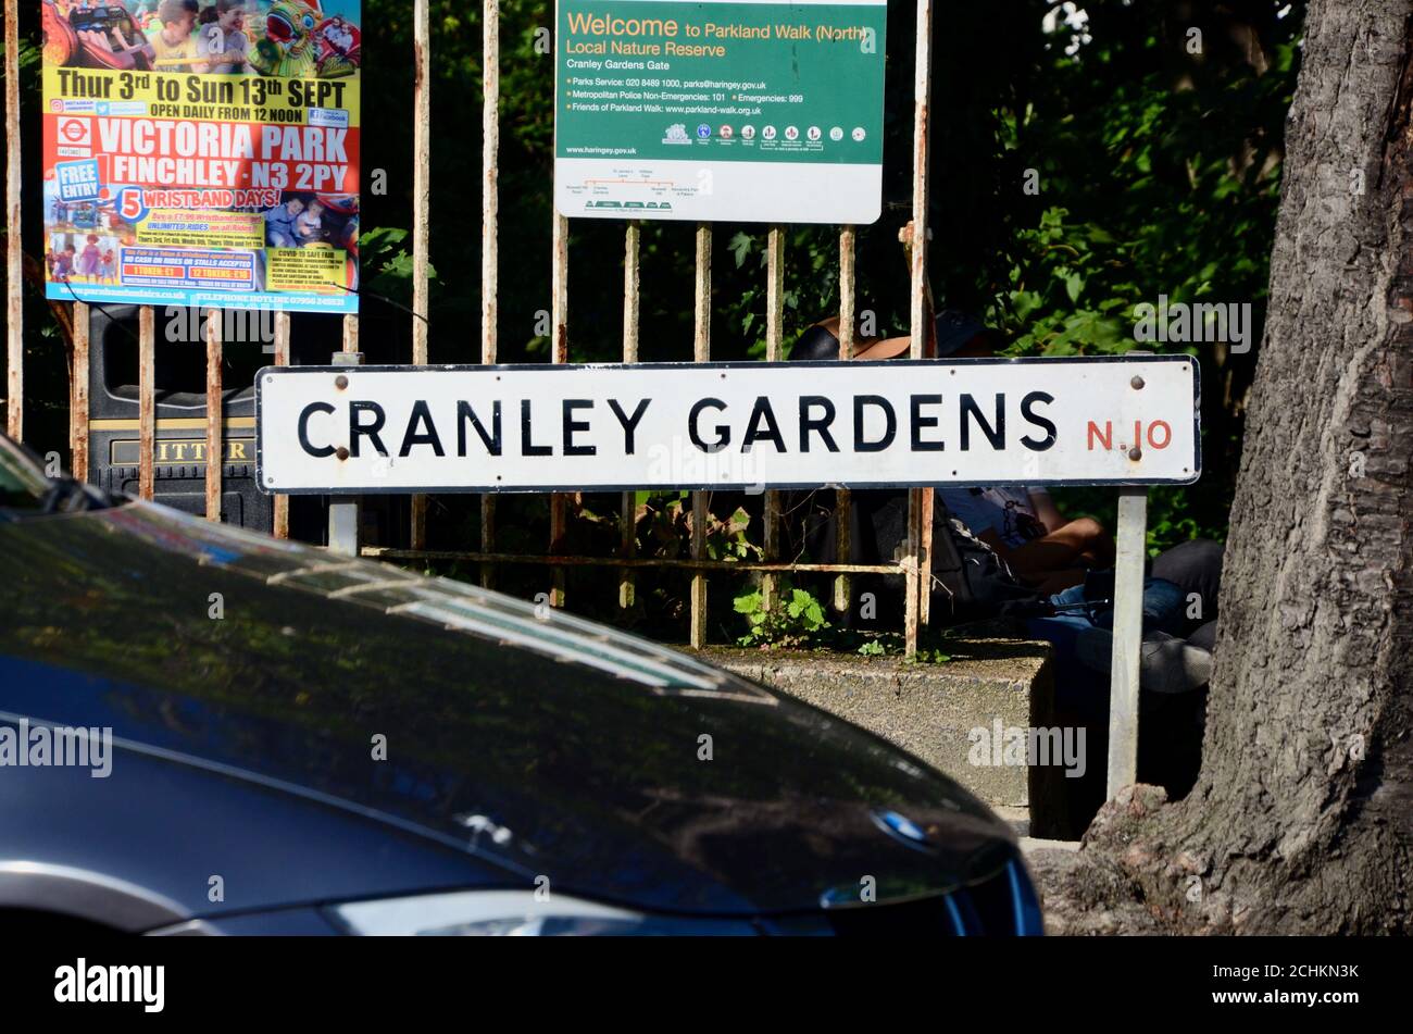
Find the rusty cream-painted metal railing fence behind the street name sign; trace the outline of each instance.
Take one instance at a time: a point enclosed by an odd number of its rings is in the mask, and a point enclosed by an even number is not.
[[[7,292],[7,336],[6,336],[6,388],[7,429],[11,436],[23,438],[24,401],[24,355],[23,314],[20,307],[20,283],[23,253],[20,250],[20,93],[18,93],[18,0],[4,0],[6,11],[6,141],[7,175],[6,208],[11,232],[7,237],[6,268],[8,274]],[[431,32],[428,0],[415,0],[414,20],[414,184],[413,184],[413,363],[425,364],[428,356],[430,331],[430,233],[431,233]],[[495,363],[497,359],[497,291],[499,291],[499,103],[500,103],[500,4],[499,0],[482,3],[482,263],[480,263],[480,362]],[[928,202],[928,121],[931,85],[931,23],[933,0],[917,0],[917,48],[914,71],[914,123],[913,123],[913,219],[906,242],[910,257],[910,333],[914,359],[927,355],[930,305],[927,295],[927,202]],[[569,220],[555,213],[551,227],[551,362],[569,360]],[[779,360],[784,355],[784,291],[786,291],[786,232],[783,226],[771,226],[767,233],[766,253],[766,357]],[[640,226],[629,222],[625,229],[623,250],[623,362],[634,363],[639,357],[639,243]],[[839,352],[841,359],[851,359],[855,350],[856,325],[856,232],[852,226],[839,230]],[[695,232],[695,284],[692,305],[692,360],[711,359],[711,258],[712,227],[701,223]],[[71,370],[71,455],[72,468],[88,469],[88,307],[75,302],[73,363]],[[154,311],[140,308],[138,323],[138,425],[140,460],[138,493],[143,499],[153,497],[154,489]],[[356,353],[359,322],[356,315],[343,318],[343,353]],[[206,404],[205,425],[206,456],[222,456],[222,349],[220,321],[206,321]],[[290,316],[276,314],[274,363],[287,366],[291,359]],[[222,499],[222,463],[206,463],[205,480],[206,513],[211,520],[219,520]],[[389,561],[468,561],[479,564],[482,583],[490,586],[496,568],[500,565],[541,565],[550,568],[550,603],[565,605],[567,568],[602,566],[617,569],[619,606],[634,605],[634,571],[644,568],[675,568],[691,574],[690,592],[690,641],[694,647],[706,643],[706,586],[709,574],[762,575],[763,595],[774,602],[779,576],[791,572],[834,575],[831,605],[836,612],[851,606],[852,575],[889,575],[904,579],[906,619],[904,637],[909,653],[917,648],[918,630],[928,617],[928,585],[931,581],[930,537],[931,537],[931,489],[909,492],[907,541],[903,558],[896,564],[849,564],[851,555],[849,521],[836,521],[836,549],[841,562],[801,564],[780,559],[781,511],[780,496],[767,492],[764,506],[763,558],[753,561],[712,561],[706,557],[706,514],[708,492],[691,493],[691,549],[682,559],[647,558],[636,555],[636,506],[634,493],[622,494],[619,516],[620,548],[612,557],[578,557],[562,552],[568,530],[569,497],[555,493],[550,499],[550,542],[544,555],[507,554],[496,551],[496,499],[480,499],[480,542],[479,549],[447,551],[427,548],[427,496],[411,497],[410,548],[365,547],[362,554]],[[836,494],[841,514],[848,514],[849,493]],[[277,537],[290,534],[288,496],[274,499],[273,528]]]

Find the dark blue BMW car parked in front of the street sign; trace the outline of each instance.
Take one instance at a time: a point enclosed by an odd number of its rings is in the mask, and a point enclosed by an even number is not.
[[[0,441],[0,928],[1039,934],[1006,825],[612,629]]]

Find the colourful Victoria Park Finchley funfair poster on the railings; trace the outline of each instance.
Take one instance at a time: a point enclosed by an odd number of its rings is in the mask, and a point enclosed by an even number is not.
[[[65,301],[357,311],[360,0],[40,0]]]

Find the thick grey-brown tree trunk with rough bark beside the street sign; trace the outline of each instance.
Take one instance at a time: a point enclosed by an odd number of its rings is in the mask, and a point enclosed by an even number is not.
[[[1202,773],[1036,859],[1057,931],[1413,929],[1413,0],[1313,0],[1286,133]]]

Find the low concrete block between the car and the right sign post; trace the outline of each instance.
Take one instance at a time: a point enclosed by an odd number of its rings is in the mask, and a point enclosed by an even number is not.
[[[944,648],[945,662],[725,647],[702,655],[917,754],[1023,833],[1072,835],[1064,768],[993,747],[993,740],[1015,743],[1017,735],[1058,725],[1050,644],[978,637],[952,638]]]

